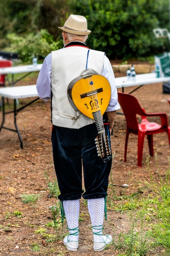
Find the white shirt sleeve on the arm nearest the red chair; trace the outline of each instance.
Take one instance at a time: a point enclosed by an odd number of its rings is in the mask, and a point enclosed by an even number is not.
[[[104,67],[102,76],[105,76],[108,79],[111,87],[111,97],[106,112],[115,111],[120,109],[120,105],[118,103],[118,96],[117,96],[117,87],[115,83],[115,75],[113,72],[112,65],[109,59],[104,56]]]

